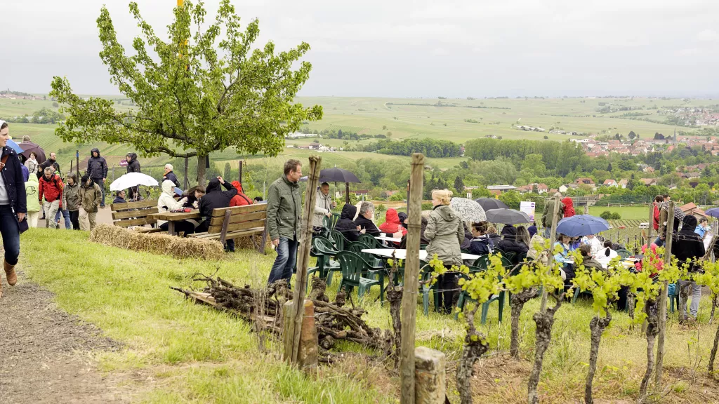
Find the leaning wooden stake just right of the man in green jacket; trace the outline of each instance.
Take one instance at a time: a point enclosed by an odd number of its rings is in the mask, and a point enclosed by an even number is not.
[[[312,247],[312,218],[314,217],[314,206],[319,181],[319,169],[322,157],[310,156],[310,172],[307,178],[307,192],[305,195],[305,208],[303,209],[304,217],[302,218],[302,228],[300,237],[300,250],[297,252],[297,277],[295,279],[295,290],[293,294],[295,315],[293,333],[293,349],[290,363],[297,363],[297,355],[300,350],[300,333],[302,331],[302,316],[304,315],[305,290],[307,288],[307,267],[310,262],[310,249]],[[287,330],[290,331],[290,330]],[[286,332],[286,331],[285,331]],[[289,358],[288,358],[289,359]]]

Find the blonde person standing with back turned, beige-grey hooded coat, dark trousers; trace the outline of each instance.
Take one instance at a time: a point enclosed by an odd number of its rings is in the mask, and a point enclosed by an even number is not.
[[[464,222],[462,216],[457,211],[449,207],[449,201],[452,200],[452,191],[450,190],[433,190],[432,191],[432,209],[427,219],[427,229],[424,231],[424,237],[429,239],[427,245],[427,259],[431,260],[436,254],[439,260],[447,269],[453,265],[462,265],[462,250],[459,247],[464,241]],[[452,313],[454,300],[459,295],[457,289],[457,274],[447,272],[439,275],[438,278],[439,292],[436,294],[439,300],[439,307],[444,308],[444,313]]]

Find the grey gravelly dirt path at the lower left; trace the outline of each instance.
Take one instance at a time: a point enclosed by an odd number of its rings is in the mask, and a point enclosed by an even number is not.
[[[0,403],[129,403],[129,387],[104,377],[91,352],[120,344],[55,306],[52,293],[18,274],[0,299]]]

